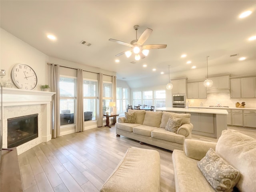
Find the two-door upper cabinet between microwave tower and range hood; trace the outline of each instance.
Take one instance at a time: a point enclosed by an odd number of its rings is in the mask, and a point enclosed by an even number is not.
[[[187,83],[188,99],[206,98],[206,87],[204,82]]]

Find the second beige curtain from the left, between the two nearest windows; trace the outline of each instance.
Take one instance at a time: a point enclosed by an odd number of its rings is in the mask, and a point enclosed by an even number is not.
[[[84,92],[83,70],[77,69],[76,83],[76,132],[84,131]]]

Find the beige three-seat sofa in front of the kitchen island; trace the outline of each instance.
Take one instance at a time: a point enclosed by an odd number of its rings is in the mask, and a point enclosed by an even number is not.
[[[171,151],[174,149],[182,150],[185,138],[191,138],[193,125],[190,123],[190,114],[131,109],[128,112],[135,113],[136,122],[127,123],[124,117],[118,118],[116,136],[126,136]],[[177,134],[164,129],[170,115],[182,118]]]

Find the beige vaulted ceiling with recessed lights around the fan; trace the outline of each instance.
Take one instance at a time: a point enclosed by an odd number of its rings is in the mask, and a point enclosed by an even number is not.
[[[239,18],[246,10],[252,14]],[[256,2],[251,0],[1,0],[0,11],[1,28],[44,54],[115,71],[118,79],[167,74],[168,65],[171,73],[188,72],[192,66],[206,68],[207,55],[209,66],[219,68],[240,57],[256,61],[256,41],[248,40],[256,36]],[[134,25],[140,26],[138,37],[146,28],[153,30],[144,44],[167,44],[167,48],[150,50],[140,61],[121,55],[116,63],[115,55],[128,47],[108,39],[130,43],[136,39]],[[49,40],[48,34],[56,40]],[[182,54],[187,57],[181,58]],[[233,54],[238,56],[230,57]]]

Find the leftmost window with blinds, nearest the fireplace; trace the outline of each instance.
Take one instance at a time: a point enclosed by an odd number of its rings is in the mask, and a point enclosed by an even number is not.
[[[76,78],[60,76],[60,125],[74,124]]]

